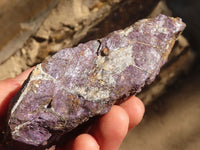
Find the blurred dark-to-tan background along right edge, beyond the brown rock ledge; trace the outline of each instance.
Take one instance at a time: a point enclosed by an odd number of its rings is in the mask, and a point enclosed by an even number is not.
[[[121,150],[200,149],[200,1],[166,0],[165,5],[187,24],[183,35],[195,58],[188,71],[146,107],[142,123],[128,134]]]

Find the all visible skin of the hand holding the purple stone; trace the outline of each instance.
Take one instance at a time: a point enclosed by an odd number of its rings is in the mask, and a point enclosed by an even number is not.
[[[28,69],[16,78],[0,81],[0,129],[5,123],[10,100],[20,89],[32,69]],[[86,133],[71,139],[57,150],[117,150],[127,132],[142,120],[144,110],[142,101],[131,96],[122,104],[114,105]]]

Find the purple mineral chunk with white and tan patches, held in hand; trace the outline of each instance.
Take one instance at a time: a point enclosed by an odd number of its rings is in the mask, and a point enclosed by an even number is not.
[[[49,147],[140,92],[155,79],[184,28],[180,18],[159,15],[46,59],[12,100],[7,144]]]

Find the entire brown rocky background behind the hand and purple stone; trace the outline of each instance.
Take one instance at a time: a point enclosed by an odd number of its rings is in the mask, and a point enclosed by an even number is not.
[[[199,0],[1,0],[0,80],[15,77],[60,49],[160,13],[181,17],[187,28],[155,82],[137,95],[146,113],[120,150],[198,150]]]

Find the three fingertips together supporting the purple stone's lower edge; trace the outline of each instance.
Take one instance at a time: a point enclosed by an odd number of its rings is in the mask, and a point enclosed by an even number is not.
[[[107,114],[96,121],[89,131],[91,135],[79,135],[75,140],[68,142],[65,149],[118,150],[128,129],[135,127],[142,120],[143,115],[142,101],[132,96],[120,106],[114,105]]]

